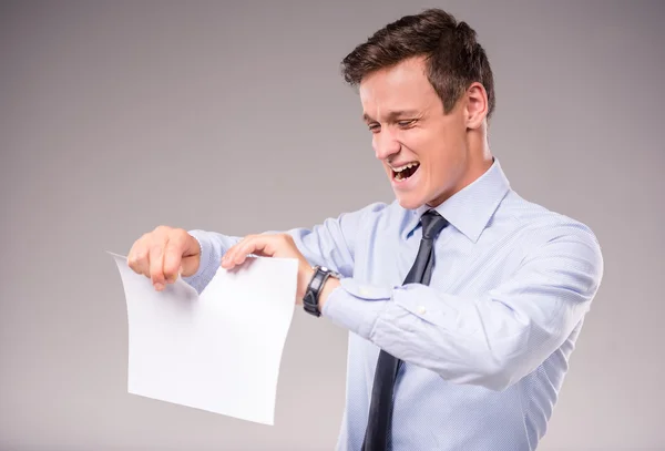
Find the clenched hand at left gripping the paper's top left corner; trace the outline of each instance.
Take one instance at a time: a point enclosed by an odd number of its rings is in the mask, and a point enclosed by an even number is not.
[[[157,291],[173,284],[178,274],[191,276],[201,264],[198,242],[182,228],[158,226],[134,242],[127,264],[137,274],[150,277]]]

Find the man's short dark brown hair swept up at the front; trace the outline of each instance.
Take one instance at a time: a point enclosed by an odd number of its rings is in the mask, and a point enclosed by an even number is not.
[[[488,93],[488,119],[494,111],[494,81],[484,49],[467,22],[440,9],[405,16],[374,33],[341,62],[342,75],[351,85],[379,69],[412,57],[426,57],[428,79],[449,113],[473,82]]]

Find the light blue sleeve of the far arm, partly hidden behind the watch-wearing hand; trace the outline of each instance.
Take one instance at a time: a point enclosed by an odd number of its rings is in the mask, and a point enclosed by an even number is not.
[[[311,266],[327,266],[345,277],[351,277],[357,230],[367,215],[376,214],[386,207],[383,203],[375,203],[356,212],[344,213],[337,218],[328,218],[311,229],[300,227],[286,233],[294,238],[296,247]],[[195,274],[183,277],[183,280],[201,293],[214,277],[226,250],[242,237],[200,229],[188,233],[201,246],[201,265]]]

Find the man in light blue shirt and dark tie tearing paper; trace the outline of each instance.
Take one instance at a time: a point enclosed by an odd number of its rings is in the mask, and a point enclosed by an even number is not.
[[[393,203],[242,239],[161,226],[129,265],[156,289],[180,271],[201,291],[219,264],[297,258],[297,303],[351,332],[338,449],[534,450],[601,283],[600,245],[510,188],[487,139],[492,71],[467,23],[405,17],[342,65]]]

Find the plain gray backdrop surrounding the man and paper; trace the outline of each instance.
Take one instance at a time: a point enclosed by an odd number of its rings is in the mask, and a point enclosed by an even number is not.
[[[0,449],[334,447],[346,332],[300,310],[274,427],[127,394],[105,250],[160,224],[245,235],[390,202],[339,61],[430,6],[489,53],[513,188],[604,252],[539,449],[665,449],[665,4],[497,3],[2,2]]]

